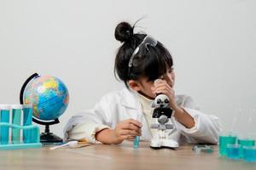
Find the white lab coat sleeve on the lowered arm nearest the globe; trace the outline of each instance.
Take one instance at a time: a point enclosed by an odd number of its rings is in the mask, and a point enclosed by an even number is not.
[[[96,141],[95,134],[112,126],[112,117],[108,108],[108,99],[107,101],[102,99],[93,110],[81,111],[79,114],[72,116],[64,128],[64,139],[99,143]]]

